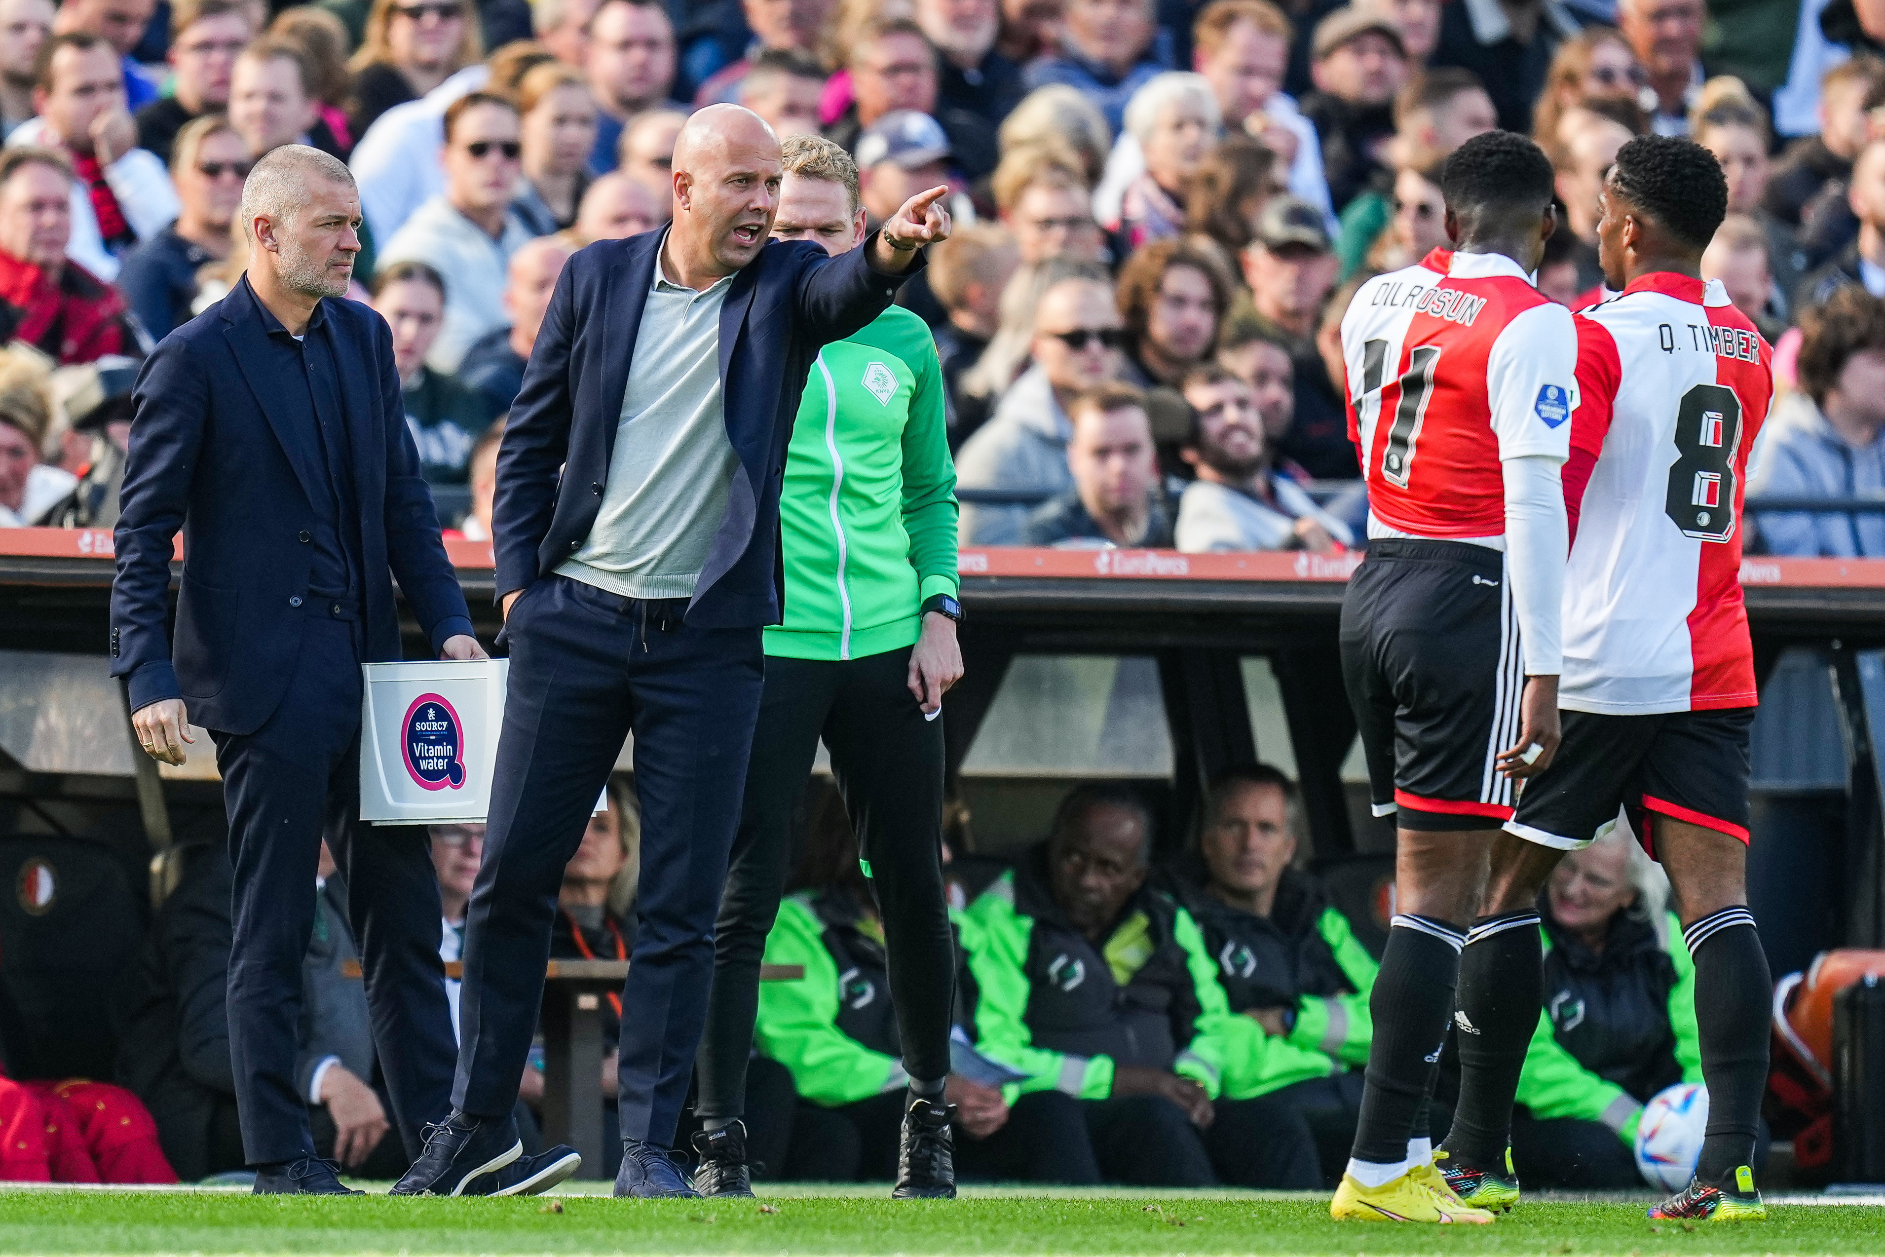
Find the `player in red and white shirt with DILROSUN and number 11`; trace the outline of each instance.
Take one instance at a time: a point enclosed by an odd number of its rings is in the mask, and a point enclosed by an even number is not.
[[[1491,1221],[1446,1191],[1423,1110],[1489,852],[1559,739],[1576,328],[1531,285],[1557,222],[1551,162],[1491,132],[1442,190],[1457,249],[1370,279],[1342,318],[1370,507],[1342,678],[1376,816],[1395,814],[1397,916],[1338,1219]]]

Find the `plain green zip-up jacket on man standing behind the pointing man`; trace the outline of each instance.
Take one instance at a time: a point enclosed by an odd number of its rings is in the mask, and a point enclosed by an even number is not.
[[[818,354],[786,450],[786,609],[765,654],[899,650],[918,637],[924,599],[958,592],[942,403],[935,339],[901,305]]]

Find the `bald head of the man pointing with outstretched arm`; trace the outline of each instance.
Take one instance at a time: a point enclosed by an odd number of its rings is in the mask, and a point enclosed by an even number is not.
[[[675,138],[675,224],[667,247],[701,275],[731,275],[773,232],[779,138],[752,109],[707,106]]]

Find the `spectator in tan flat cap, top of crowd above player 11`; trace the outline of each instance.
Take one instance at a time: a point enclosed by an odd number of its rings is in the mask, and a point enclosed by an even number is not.
[[[1382,166],[1382,145],[1395,134],[1395,96],[1408,81],[1401,28],[1378,11],[1353,4],[1316,23],[1303,115],[1321,136],[1321,164],[1336,213]]]

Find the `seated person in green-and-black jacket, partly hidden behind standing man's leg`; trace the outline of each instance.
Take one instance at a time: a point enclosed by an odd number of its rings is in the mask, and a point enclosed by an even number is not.
[[[884,925],[848,835],[814,833],[807,867],[820,886],[788,895],[765,939],[767,965],[805,976],[760,986],[754,1042],[792,1072],[799,1093],[794,1157],[784,1178],[886,1180],[909,1074],[890,993]],[[839,846],[835,857],[829,848]],[[973,925],[961,923],[963,929]],[[961,952],[956,952],[961,965]],[[973,1025],[973,982],[956,984],[956,1025]],[[961,1035],[961,1048],[969,1037]],[[963,1172],[1048,1184],[1099,1184],[1080,1102],[1057,1091],[1010,1097],[988,1080],[950,1078],[956,1163]]]

